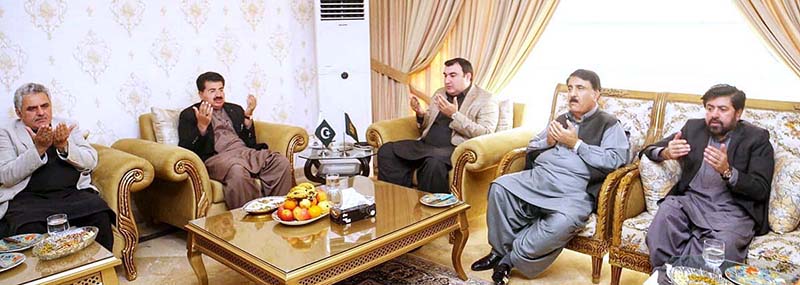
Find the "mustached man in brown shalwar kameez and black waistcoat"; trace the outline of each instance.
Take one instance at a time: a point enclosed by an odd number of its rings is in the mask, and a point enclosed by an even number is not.
[[[178,145],[200,156],[208,176],[222,181],[228,209],[259,197],[289,193],[289,160],[256,143],[252,118],[256,97],[248,95],[247,109],[225,102],[225,78],[216,72],[200,74],[196,84],[201,101],[181,112]]]

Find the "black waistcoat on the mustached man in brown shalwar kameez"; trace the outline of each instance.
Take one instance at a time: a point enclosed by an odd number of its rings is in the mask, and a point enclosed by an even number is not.
[[[206,130],[206,135],[201,136],[200,130],[197,129],[197,117],[194,115],[192,107],[200,108],[200,103],[183,109],[181,116],[178,119],[178,145],[193,151],[203,161],[211,156],[217,154],[214,150],[214,124],[211,123]],[[244,126],[244,109],[241,106],[233,103],[225,103],[222,109],[231,118],[233,129],[236,134],[244,141],[247,147],[252,149],[266,149],[267,145],[264,143],[256,144],[255,122],[250,128]]]

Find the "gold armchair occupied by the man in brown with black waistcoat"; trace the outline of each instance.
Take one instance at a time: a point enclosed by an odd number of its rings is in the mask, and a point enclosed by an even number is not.
[[[203,161],[194,152],[177,146],[179,111],[153,111],[156,113],[139,116],[140,139],[121,139],[112,145],[155,167],[156,177],[148,191],[134,197],[142,214],[183,228],[190,220],[228,210],[222,183],[209,178]],[[295,153],[308,145],[308,133],[300,127],[255,121],[255,132],[258,143],[267,143],[271,150],[285,155],[292,166]],[[157,142],[157,137],[163,137],[160,139],[166,143]]]

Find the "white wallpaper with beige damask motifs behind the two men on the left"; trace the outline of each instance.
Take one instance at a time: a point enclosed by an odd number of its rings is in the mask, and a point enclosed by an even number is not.
[[[39,82],[55,116],[110,145],[138,137],[138,116],[152,106],[197,102],[194,80],[212,70],[225,76],[229,102],[258,98],[257,120],[312,133],[313,17],[313,0],[2,1],[0,118],[16,119],[14,90]]]

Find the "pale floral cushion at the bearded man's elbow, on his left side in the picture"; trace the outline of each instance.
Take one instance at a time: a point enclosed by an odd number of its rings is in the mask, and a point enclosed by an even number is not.
[[[644,188],[645,207],[647,212],[655,215],[658,211],[658,200],[664,198],[672,186],[680,180],[681,166],[677,160],[657,163],[643,155],[639,162],[639,173]]]

